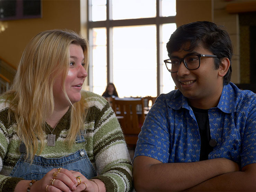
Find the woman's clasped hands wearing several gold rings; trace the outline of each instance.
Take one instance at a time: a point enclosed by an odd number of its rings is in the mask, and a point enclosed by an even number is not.
[[[97,185],[97,184],[96,184]],[[98,187],[98,186],[96,186]],[[44,189],[43,189],[44,188]],[[80,172],[64,168],[54,168],[41,180],[35,182],[31,191],[98,191],[95,182],[86,179]]]

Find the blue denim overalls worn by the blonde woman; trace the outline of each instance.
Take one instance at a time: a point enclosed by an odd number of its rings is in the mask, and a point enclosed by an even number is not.
[[[25,157],[26,154],[24,153],[20,155],[18,162],[10,173],[11,177],[21,177],[25,180],[40,180],[47,172],[58,167],[78,171],[87,179],[91,179],[97,175],[85,150],[84,156],[80,155],[80,150],[60,158],[44,158],[35,155],[32,164],[26,162],[24,160]]]

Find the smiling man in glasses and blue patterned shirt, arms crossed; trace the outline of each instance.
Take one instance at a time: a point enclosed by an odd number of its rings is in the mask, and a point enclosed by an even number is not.
[[[180,26],[134,158],[136,191],[255,191],[256,94],[230,82],[232,43],[213,22]]]

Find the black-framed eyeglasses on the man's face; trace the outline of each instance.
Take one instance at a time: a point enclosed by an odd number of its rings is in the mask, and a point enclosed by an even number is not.
[[[204,54],[196,54],[196,55],[187,55],[184,58],[170,58],[164,60],[166,68],[171,73],[176,73],[179,69],[181,62],[183,61],[186,68],[189,70],[195,70],[200,67],[200,58],[201,57],[218,57],[216,55],[204,55]]]

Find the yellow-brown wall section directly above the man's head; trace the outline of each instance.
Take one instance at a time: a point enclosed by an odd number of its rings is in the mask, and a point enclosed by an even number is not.
[[[177,27],[194,21],[212,21],[212,0],[176,0]]]

